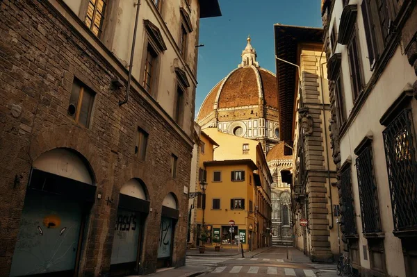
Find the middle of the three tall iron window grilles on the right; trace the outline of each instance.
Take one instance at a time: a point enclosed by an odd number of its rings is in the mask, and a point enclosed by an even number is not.
[[[373,170],[372,146],[367,146],[356,160],[359,185],[359,201],[361,204],[362,231],[379,233],[381,223],[379,219],[379,205],[377,185]]]

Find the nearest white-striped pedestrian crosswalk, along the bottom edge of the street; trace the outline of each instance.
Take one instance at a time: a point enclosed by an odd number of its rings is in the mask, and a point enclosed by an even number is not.
[[[311,269],[293,269],[282,267],[251,267],[251,266],[229,266],[229,267],[216,267],[213,274],[268,274],[279,276],[305,276],[316,277]]]

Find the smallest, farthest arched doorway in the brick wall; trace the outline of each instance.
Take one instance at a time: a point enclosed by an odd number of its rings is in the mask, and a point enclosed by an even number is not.
[[[175,225],[179,217],[177,197],[173,193],[165,196],[162,202],[161,228],[159,232],[157,267],[171,267],[172,247]]]

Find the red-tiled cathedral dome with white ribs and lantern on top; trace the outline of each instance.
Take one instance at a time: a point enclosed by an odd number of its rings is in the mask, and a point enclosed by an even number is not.
[[[278,109],[277,78],[259,67],[250,37],[242,52],[242,62],[208,93],[197,115],[202,121],[215,110],[265,106]]]

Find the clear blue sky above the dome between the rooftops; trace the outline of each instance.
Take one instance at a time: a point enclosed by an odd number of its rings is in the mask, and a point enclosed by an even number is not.
[[[222,17],[200,21],[195,116],[204,98],[241,62],[247,35],[259,65],[275,73],[274,24],[322,27],[320,0],[219,0]]]

